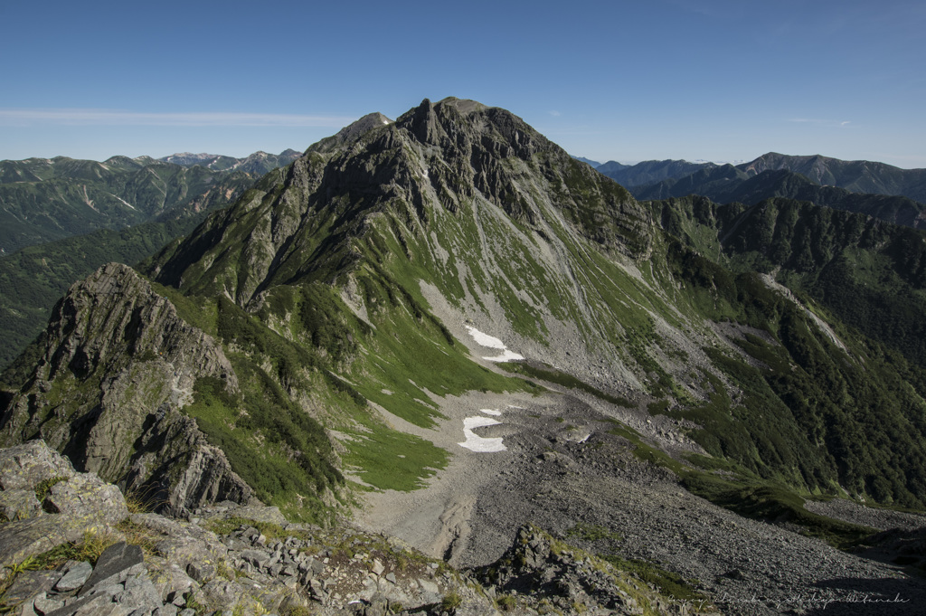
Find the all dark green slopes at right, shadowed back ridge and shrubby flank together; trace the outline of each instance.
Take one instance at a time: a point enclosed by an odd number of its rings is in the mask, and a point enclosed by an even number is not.
[[[921,507],[926,236],[786,199],[744,207],[689,197],[650,206],[682,238],[674,268],[696,304],[714,319],[759,330],[736,341],[759,370],[729,369],[741,386],[774,393],[762,414],[770,401],[783,403],[818,447],[807,459],[821,459],[825,446],[822,459],[850,491]],[[803,313],[768,290],[778,284],[772,276],[803,297]]]

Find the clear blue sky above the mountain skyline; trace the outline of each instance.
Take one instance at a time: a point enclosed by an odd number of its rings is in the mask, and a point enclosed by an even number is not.
[[[0,23],[0,158],[303,150],[452,95],[602,162],[926,168],[921,1],[5,2]]]

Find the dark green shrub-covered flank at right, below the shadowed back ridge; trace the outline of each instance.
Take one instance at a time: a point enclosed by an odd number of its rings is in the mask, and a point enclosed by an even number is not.
[[[706,348],[714,365],[742,391],[733,401],[705,374],[708,403],[669,415],[702,426],[692,437],[716,457],[803,492],[870,497],[926,506],[926,405],[923,371],[899,353],[848,330],[846,354],[784,295],[754,273],[731,274],[681,245],[670,263],[706,316],[764,330],[735,353]],[[809,301],[809,300],[807,300]],[[818,308],[819,309],[819,308]]]

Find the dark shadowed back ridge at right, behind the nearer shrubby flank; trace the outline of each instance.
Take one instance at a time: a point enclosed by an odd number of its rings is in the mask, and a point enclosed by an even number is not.
[[[926,273],[920,231],[776,198],[719,206],[704,197],[653,202],[670,233],[737,271],[773,273],[832,315],[926,367]]]

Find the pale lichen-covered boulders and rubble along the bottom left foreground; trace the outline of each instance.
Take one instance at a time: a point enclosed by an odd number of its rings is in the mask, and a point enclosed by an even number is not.
[[[0,450],[0,481],[19,486],[0,495],[26,489],[34,498],[36,488],[48,482],[39,477],[48,473],[20,471],[40,468],[63,473],[53,477],[61,481],[44,497],[44,509],[56,512],[40,509],[34,518],[0,522],[0,604],[18,615],[490,616],[499,610],[550,613],[543,606],[554,605],[564,614],[643,613],[620,584],[630,585],[646,613],[683,612],[669,609],[665,597],[639,580],[619,578],[612,570],[597,573],[598,586],[590,592],[599,603],[630,607],[596,608],[592,596],[578,590],[582,584],[590,588],[592,580],[585,563],[574,558],[579,552],[538,529],[519,535],[518,546],[529,547],[514,548],[523,563],[518,572],[500,561],[494,578],[505,581],[486,587],[475,577],[480,572],[455,571],[394,538],[290,524],[275,508],[223,502],[197,509],[189,522],[130,514],[116,486],[93,473],[75,473],[41,441]],[[75,490],[79,499],[63,497]],[[562,548],[556,557],[553,547]],[[557,587],[568,597],[518,594],[525,576],[547,575],[557,566],[562,570],[556,570],[562,573]]]

